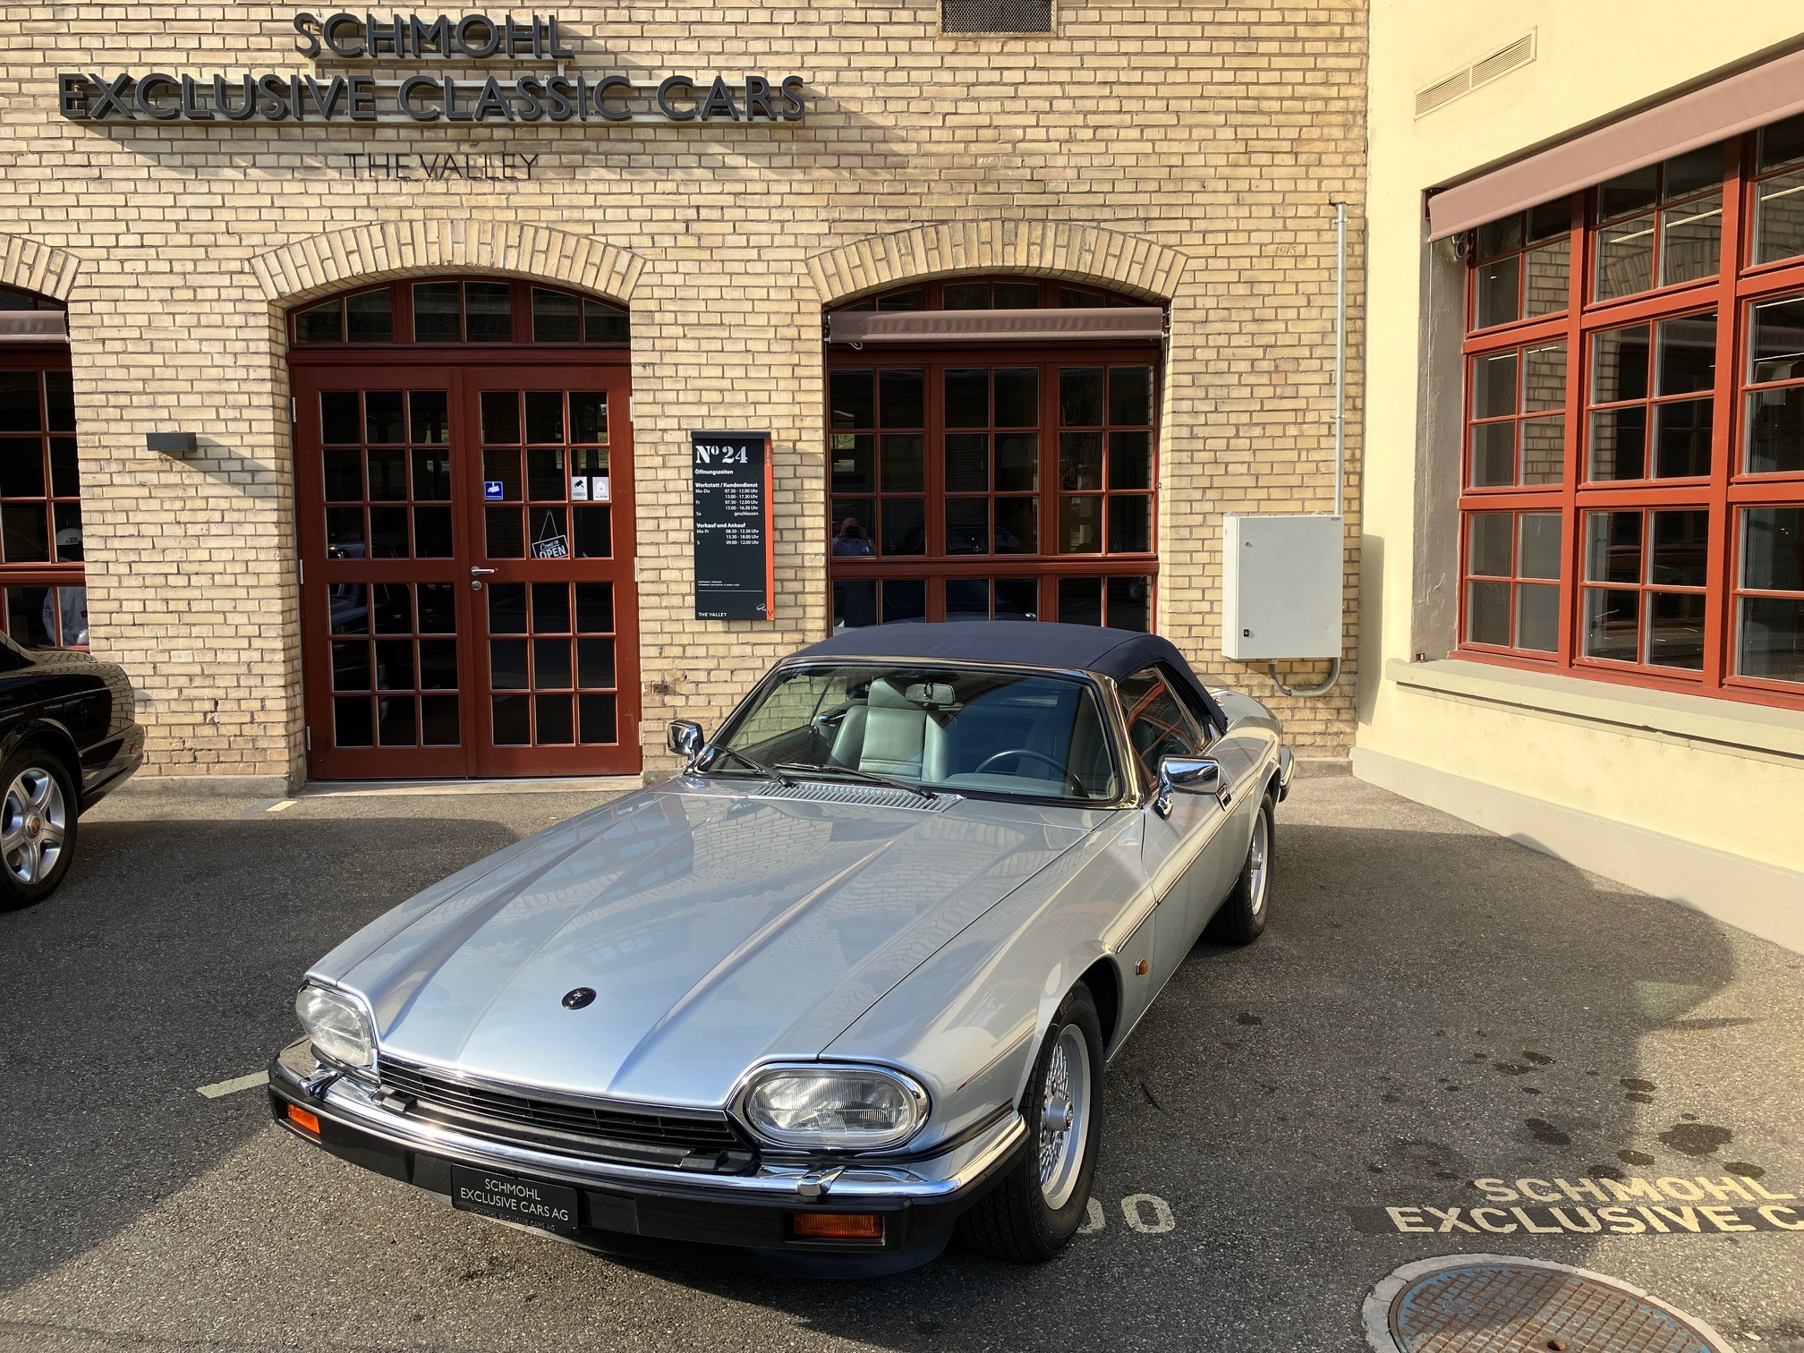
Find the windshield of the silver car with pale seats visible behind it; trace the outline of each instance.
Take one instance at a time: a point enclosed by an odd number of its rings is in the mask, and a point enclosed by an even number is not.
[[[1001,667],[785,667],[722,731],[702,769],[1082,803],[1120,796],[1095,687]]]

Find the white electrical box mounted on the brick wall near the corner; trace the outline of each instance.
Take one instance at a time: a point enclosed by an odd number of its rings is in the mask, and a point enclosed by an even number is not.
[[[1339,516],[1223,518],[1221,655],[1340,657],[1344,541]]]

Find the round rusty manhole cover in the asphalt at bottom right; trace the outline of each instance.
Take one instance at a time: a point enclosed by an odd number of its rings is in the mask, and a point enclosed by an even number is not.
[[[1494,1254],[1404,1265],[1367,1297],[1366,1333],[1385,1353],[1728,1353],[1625,1283]]]

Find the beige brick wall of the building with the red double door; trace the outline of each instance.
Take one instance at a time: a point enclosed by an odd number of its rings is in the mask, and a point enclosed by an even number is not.
[[[437,11],[435,11],[437,13]],[[1160,630],[1270,698],[1302,754],[1351,741],[1328,700],[1220,657],[1220,518],[1331,503],[1333,213],[1355,224],[1349,503],[1362,424],[1366,13],[1061,0],[1059,34],[943,38],[933,0],[557,7],[574,69],[799,72],[797,124],[70,123],[56,70],[310,67],[294,9],[49,5],[0,18],[0,285],[69,301],[94,649],[144,696],[152,767],[301,765],[281,312],[352,280],[498,271],[633,312],[648,765],[828,626],[819,312],[967,269],[1171,301]],[[345,70],[345,65],[332,67]],[[444,67],[431,67],[442,72]],[[352,152],[541,155],[532,182],[354,179]],[[691,619],[687,433],[769,426],[778,619]],[[144,433],[182,428],[170,460]],[[1286,671],[1313,682],[1324,664]]]

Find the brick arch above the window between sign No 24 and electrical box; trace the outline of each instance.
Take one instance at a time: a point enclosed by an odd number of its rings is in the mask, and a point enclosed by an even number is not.
[[[1100,226],[1046,220],[971,220],[916,226],[830,249],[808,260],[823,305],[868,290],[956,272],[1019,272],[1106,283],[1169,301],[1189,256]]]

